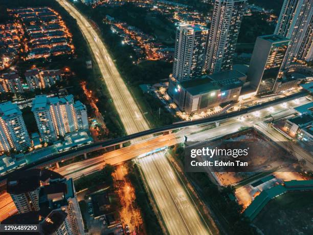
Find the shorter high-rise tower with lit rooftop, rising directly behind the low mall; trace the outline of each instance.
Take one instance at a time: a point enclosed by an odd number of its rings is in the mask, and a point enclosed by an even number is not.
[[[187,81],[200,76],[205,62],[208,29],[200,25],[177,27],[173,77]]]

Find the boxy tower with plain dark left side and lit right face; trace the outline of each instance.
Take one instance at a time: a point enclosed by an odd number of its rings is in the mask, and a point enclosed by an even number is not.
[[[248,70],[248,81],[257,94],[273,91],[288,42],[275,34],[257,37]]]

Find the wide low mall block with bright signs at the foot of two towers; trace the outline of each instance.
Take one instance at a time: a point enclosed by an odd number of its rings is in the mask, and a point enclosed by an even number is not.
[[[200,113],[221,104],[237,102],[242,80],[245,80],[245,75],[236,70],[203,75],[186,82],[170,77],[168,94],[181,111]]]

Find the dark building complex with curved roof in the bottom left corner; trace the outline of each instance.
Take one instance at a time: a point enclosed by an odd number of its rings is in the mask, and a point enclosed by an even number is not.
[[[49,169],[30,169],[11,174],[7,192],[19,216],[37,215],[32,224],[40,223],[42,234],[84,234],[73,179],[66,180]]]

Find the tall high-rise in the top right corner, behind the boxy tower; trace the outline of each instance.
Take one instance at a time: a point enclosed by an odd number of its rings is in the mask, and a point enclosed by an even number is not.
[[[285,0],[275,34],[290,39],[282,69],[294,60],[313,60],[313,1]]]

